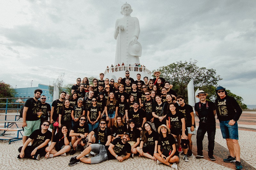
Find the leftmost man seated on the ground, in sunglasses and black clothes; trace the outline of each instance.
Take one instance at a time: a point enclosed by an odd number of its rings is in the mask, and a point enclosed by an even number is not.
[[[49,121],[44,121],[41,125],[41,129],[37,129],[31,133],[25,144],[23,144],[23,146],[18,149],[20,154],[17,158],[30,158],[40,160],[40,154],[46,154],[45,148],[48,146],[48,143],[52,138],[52,133],[48,130],[49,125]],[[30,142],[32,142],[32,144],[28,146]]]

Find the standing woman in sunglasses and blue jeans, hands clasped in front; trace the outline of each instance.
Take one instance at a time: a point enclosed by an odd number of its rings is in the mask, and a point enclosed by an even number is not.
[[[92,105],[87,110],[89,133],[99,127],[100,107],[97,106],[96,97],[92,97]]]

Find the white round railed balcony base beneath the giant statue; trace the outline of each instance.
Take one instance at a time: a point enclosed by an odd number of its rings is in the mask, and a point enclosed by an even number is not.
[[[134,80],[137,80],[137,74],[140,73],[141,80],[144,77],[148,77],[148,80],[151,78],[151,71],[146,69],[145,67],[135,67],[135,66],[117,66],[107,68],[104,72],[104,78],[114,79],[117,82],[119,77],[125,77],[125,71],[128,70],[130,72],[130,77]]]

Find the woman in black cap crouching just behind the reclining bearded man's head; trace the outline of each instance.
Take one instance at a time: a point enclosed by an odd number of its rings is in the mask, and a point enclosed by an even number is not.
[[[140,130],[135,128],[134,120],[129,121],[127,133],[130,134],[130,141],[128,142],[132,146],[131,156],[134,158],[134,154],[137,154],[136,147],[140,144]]]

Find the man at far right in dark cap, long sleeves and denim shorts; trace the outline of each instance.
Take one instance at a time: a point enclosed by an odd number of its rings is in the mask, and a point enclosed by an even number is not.
[[[230,156],[224,162],[236,162],[236,169],[243,169],[240,161],[240,146],[238,143],[237,121],[242,114],[242,109],[234,97],[228,96],[224,87],[215,90],[217,99],[217,118],[220,121],[220,130],[223,139],[226,139]]]

